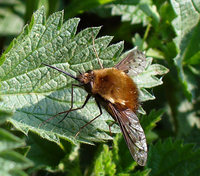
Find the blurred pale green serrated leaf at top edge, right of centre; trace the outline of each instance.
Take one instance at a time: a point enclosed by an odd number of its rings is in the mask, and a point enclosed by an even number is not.
[[[147,25],[150,18],[156,23],[159,22],[160,17],[156,6],[152,4],[151,0],[132,2],[131,4],[115,4],[112,5],[112,15],[121,15],[122,21],[131,21],[131,24],[143,23]]]

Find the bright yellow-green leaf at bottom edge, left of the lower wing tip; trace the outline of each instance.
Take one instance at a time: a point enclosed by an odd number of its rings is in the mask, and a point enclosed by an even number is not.
[[[135,171],[137,163],[133,161],[122,134],[115,136],[112,148],[107,144],[101,145],[97,152],[91,175],[142,175],[149,174],[150,169]]]

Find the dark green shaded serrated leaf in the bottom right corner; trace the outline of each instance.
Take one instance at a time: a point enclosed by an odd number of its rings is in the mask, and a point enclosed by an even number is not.
[[[151,146],[148,156],[147,167],[152,169],[152,176],[199,175],[200,150],[194,150],[193,144],[167,139]]]

